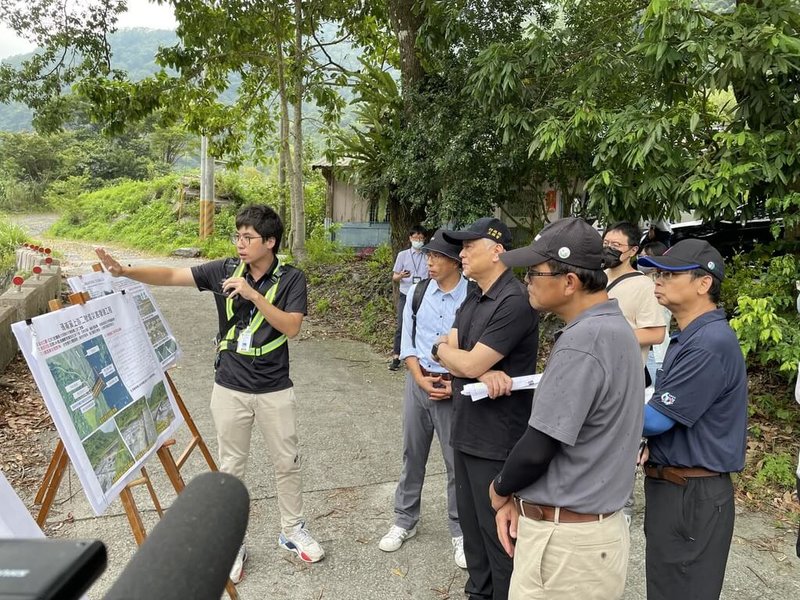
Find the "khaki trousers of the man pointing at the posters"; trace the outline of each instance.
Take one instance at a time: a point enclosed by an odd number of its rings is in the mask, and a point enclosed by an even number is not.
[[[281,527],[284,531],[295,527],[303,520],[303,477],[294,388],[250,394],[214,384],[211,416],[217,429],[219,469],[240,479],[244,479],[255,420],[275,469]]]

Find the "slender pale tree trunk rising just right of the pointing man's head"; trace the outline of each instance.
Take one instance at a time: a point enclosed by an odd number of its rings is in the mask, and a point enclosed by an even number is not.
[[[292,198],[292,255],[301,259],[306,253],[306,208],[303,193],[303,10],[301,0],[294,0],[294,198]]]

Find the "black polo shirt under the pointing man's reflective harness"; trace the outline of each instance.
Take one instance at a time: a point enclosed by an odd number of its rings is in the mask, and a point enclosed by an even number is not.
[[[223,259],[207,262],[192,267],[194,282],[199,290],[211,290],[217,306],[220,336],[224,336],[231,325],[250,322],[255,305],[242,298],[236,298],[233,303],[234,316],[231,321],[225,311],[227,298],[222,295],[222,282],[229,278],[236,266],[237,260]],[[247,282],[261,294],[269,289],[269,278],[277,266],[277,260],[270,270],[259,281],[253,281],[249,273],[245,277]],[[305,274],[292,266],[285,265],[283,274],[278,282],[278,292],[273,304],[286,312],[307,314],[308,297],[306,290]],[[279,337],[281,333],[273,329],[265,320],[253,336],[254,348],[263,346]],[[244,356],[234,351],[220,352],[219,365],[214,376],[214,381],[222,387],[261,394],[265,392],[279,392],[292,387],[289,379],[289,344],[283,344],[265,356]]]

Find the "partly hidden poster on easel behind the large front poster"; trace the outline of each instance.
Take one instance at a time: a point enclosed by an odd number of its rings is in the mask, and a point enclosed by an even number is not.
[[[100,298],[124,291],[133,298],[136,308],[142,317],[150,343],[165,369],[174,365],[180,358],[180,348],[172,335],[167,320],[158,309],[150,289],[143,283],[127,277],[112,277],[105,271],[86,273],[67,279],[73,292],[86,292],[91,298]]]

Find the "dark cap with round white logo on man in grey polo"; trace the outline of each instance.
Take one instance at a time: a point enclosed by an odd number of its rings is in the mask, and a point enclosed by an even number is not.
[[[500,255],[508,267],[529,267],[548,260],[600,271],[603,240],[583,219],[567,217],[547,225],[528,246]]]

